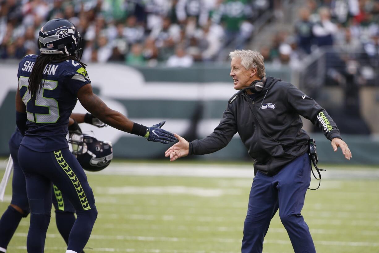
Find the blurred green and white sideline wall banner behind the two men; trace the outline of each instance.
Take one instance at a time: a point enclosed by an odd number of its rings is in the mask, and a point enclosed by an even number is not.
[[[0,156],[8,156],[8,140],[15,128],[17,68],[17,62],[0,61]],[[229,76],[230,67],[224,65],[212,68],[135,69],[123,64],[89,63],[87,71],[94,92],[110,108],[146,126],[166,120],[164,129],[189,141],[203,138],[213,132],[219,124],[227,101],[236,93]],[[268,75],[280,77],[282,80],[289,78],[288,69],[266,68],[266,71]],[[86,110],[77,103],[74,112],[85,113]],[[312,127],[310,125],[309,121],[304,121],[305,130],[309,131]],[[83,132],[94,135],[99,140],[112,141],[116,158],[164,159],[164,151],[170,146],[147,142],[141,137],[109,126],[99,129],[89,124],[81,124],[80,127]],[[332,152],[330,141],[323,135],[311,136],[317,141],[320,162],[346,162],[342,155]],[[379,157],[373,155],[374,151],[379,150],[378,141],[374,141],[370,136],[344,135],[344,139],[353,155],[357,154],[349,163],[379,164]],[[226,148],[207,156],[193,156],[188,159],[251,160],[238,134]]]

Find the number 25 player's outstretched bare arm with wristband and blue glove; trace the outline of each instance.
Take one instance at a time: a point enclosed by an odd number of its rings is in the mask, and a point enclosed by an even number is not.
[[[131,134],[141,135],[148,141],[158,141],[164,144],[176,140],[174,135],[161,129],[164,121],[151,127],[134,123],[121,113],[109,108],[96,94],[92,92],[90,83],[81,87],[77,93],[80,104],[96,118],[105,124]]]

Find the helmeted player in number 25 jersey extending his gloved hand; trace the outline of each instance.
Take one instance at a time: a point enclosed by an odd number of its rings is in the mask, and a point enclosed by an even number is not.
[[[38,41],[41,55],[27,55],[19,63],[16,94],[16,124],[24,134],[18,161],[30,206],[27,251],[44,251],[53,183],[75,208],[77,219],[66,253],[78,253],[91,235],[97,210],[87,177],[66,140],[69,115],[77,99],[96,118],[124,132],[165,144],[176,138],[161,129],[164,121],[151,127],[136,124],[92,92],[86,65],[80,61],[83,39],[74,24],[52,19],[42,26]]]

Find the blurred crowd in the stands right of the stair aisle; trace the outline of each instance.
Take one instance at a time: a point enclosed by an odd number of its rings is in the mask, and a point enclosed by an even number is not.
[[[379,59],[379,1],[304,0],[293,31],[280,31],[260,51],[274,65],[298,68],[305,56],[332,46]]]

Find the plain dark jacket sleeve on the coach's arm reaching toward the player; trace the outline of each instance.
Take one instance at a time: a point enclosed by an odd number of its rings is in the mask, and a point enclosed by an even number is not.
[[[216,152],[224,148],[233,135],[237,132],[236,120],[230,111],[230,105],[226,108],[222,119],[216,129],[201,140],[194,140],[189,143],[189,155],[204,155]]]

